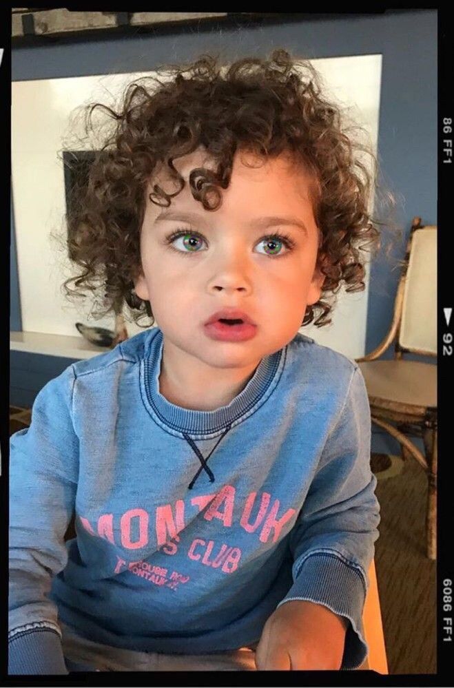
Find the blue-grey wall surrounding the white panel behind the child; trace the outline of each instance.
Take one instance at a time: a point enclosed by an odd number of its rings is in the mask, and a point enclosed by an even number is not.
[[[280,24],[219,23],[161,34],[106,38],[84,43],[17,48],[12,51],[12,79],[52,79],[108,72],[153,70],[161,63],[193,59],[222,50],[226,60],[247,54],[265,56],[285,47],[309,59],[382,54],[382,93],[378,154],[386,185],[401,198],[396,219],[406,229],[413,216],[437,222],[437,12],[393,10],[386,14],[298,19]],[[20,202],[14,199],[14,202]],[[399,271],[393,259],[404,256],[405,240],[396,242],[391,262],[379,256],[369,287],[366,351],[389,329]],[[14,254],[14,244],[12,244]],[[15,256],[12,256],[15,264]],[[12,271],[12,325],[19,322],[19,290]],[[389,350],[385,357],[391,358]],[[410,356],[414,359],[424,357]],[[58,375],[69,359],[11,353],[11,401],[30,404],[43,382]],[[397,450],[393,441],[391,447]],[[375,446],[375,450],[380,450]],[[385,448],[383,449],[385,450]]]

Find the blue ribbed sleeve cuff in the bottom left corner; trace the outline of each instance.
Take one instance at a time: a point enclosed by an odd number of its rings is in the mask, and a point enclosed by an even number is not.
[[[24,630],[8,643],[8,674],[69,674],[56,631]]]

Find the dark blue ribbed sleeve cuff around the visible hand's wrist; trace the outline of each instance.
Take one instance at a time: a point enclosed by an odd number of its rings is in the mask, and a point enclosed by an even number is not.
[[[336,554],[316,553],[302,561],[296,581],[278,607],[291,600],[308,600],[348,618],[340,669],[358,669],[369,652],[362,625],[365,598],[364,578],[359,570]]]

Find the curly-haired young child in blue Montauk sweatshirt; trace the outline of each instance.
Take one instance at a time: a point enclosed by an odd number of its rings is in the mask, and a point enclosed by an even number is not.
[[[309,63],[172,70],[105,108],[68,218],[74,291],[158,326],[69,366],[12,436],[9,671],[355,669],[367,392],[298,330],[364,288],[371,179]]]

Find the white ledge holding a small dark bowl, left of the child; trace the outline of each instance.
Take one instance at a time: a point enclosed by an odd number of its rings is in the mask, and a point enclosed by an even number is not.
[[[92,358],[110,351],[106,346],[94,346],[82,336],[51,335],[43,332],[10,332],[11,351],[26,351],[44,356],[63,358]]]

